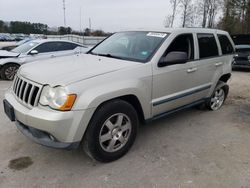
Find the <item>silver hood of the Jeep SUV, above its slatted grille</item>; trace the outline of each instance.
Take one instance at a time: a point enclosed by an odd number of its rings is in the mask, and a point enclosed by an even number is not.
[[[80,54],[25,64],[19,74],[43,85],[69,85],[138,64],[141,63]]]

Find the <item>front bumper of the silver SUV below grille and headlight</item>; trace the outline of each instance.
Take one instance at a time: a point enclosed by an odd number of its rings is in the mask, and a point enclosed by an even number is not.
[[[60,112],[37,106],[29,109],[11,91],[5,99],[13,106],[17,128],[36,143],[54,147],[76,146],[84,135],[95,109]]]

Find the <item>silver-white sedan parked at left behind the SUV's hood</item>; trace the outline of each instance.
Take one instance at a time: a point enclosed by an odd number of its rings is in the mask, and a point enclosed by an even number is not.
[[[38,39],[26,42],[11,51],[0,50],[0,75],[13,80],[18,68],[25,63],[88,51],[88,47],[63,40]]]

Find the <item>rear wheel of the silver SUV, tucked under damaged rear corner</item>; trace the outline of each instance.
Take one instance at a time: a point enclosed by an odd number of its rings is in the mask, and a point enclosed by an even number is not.
[[[206,107],[211,111],[219,110],[227,98],[228,91],[229,86],[226,83],[219,81],[212,96],[206,101]]]

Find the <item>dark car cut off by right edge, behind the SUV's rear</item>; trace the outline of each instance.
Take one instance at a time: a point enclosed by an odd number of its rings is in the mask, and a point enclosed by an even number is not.
[[[232,35],[232,39],[236,48],[233,69],[250,69],[250,35]]]

